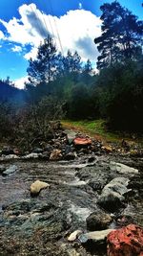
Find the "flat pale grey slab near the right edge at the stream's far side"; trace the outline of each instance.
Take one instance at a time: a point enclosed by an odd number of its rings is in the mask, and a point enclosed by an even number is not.
[[[111,170],[116,171],[118,174],[122,175],[137,175],[138,170],[134,169],[130,166],[121,164],[121,163],[115,163],[111,162]]]

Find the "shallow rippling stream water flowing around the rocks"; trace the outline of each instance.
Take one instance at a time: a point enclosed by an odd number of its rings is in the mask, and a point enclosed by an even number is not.
[[[143,159],[102,155],[92,164],[86,157],[61,162],[14,160],[3,165],[6,169],[15,165],[17,170],[0,175],[0,255],[106,255],[104,250],[89,252],[81,244],[70,244],[67,236],[76,229],[86,232],[86,219],[98,210],[102,188],[120,176],[110,169],[111,160],[139,170],[139,175],[130,177],[133,193],[122,213],[142,225]],[[30,186],[37,179],[50,188],[31,198]],[[91,180],[99,184],[97,190],[89,185]]]

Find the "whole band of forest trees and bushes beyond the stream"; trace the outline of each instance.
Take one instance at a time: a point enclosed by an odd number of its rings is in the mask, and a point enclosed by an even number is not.
[[[104,119],[112,130],[143,131],[143,22],[116,1],[100,9],[97,71],[76,51],[59,53],[49,35],[29,61],[25,89],[9,77],[0,81],[0,139],[46,138],[50,121],[60,119]]]

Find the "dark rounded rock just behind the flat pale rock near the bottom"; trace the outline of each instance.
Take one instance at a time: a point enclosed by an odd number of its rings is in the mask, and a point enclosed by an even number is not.
[[[87,229],[90,231],[103,230],[108,228],[108,225],[112,221],[110,214],[104,212],[94,212],[87,218]]]

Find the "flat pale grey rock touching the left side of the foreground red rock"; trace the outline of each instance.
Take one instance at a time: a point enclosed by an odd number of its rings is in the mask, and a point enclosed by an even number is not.
[[[113,229],[105,229],[101,231],[93,231],[86,234],[82,234],[78,237],[79,241],[82,244],[87,243],[92,240],[94,243],[105,242],[107,236],[112,232]]]

